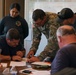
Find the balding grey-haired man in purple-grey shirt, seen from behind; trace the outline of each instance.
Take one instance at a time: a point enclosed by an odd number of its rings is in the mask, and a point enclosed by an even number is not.
[[[76,31],[72,26],[64,25],[57,29],[58,50],[52,64],[51,73],[70,67],[76,68]]]

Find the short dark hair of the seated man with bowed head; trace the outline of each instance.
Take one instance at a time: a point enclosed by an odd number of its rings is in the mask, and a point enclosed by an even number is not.
[[[19,31],[16,28],[9,29],[7,34],[6,34],[6,38],[8,38],[10,40],[12,40],[12,39],[15,39],[15,40],[20,39]]]

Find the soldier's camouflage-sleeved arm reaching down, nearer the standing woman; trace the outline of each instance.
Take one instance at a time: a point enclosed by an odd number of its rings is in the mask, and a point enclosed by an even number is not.
[[[33,25],[33,26],[34,26],[33,27],[33,42],[32,42],[32,46],[30,50],[32,50],[35,54],[38,50],[38,46],[40,44],[42,34],[40,30],[36,27],[36,25]]]

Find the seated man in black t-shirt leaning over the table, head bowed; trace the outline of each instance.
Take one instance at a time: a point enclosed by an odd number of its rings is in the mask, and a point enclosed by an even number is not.
[[[20,44],[20,34],[17,29],[11,28],[6,36],[0,38],[0,60],[21,60],[25,49]]]

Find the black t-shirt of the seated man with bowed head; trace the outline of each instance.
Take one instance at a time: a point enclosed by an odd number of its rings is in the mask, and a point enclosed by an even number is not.
[[[16,47],[10,47],[6,42],[6,37],[3,36],[0,38],[0,49],[2,49],[2,55],[14,56],[17,51],[25,50],[23,46],[19,43]]]

